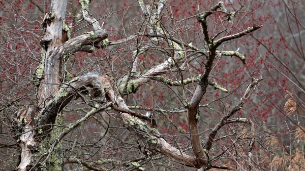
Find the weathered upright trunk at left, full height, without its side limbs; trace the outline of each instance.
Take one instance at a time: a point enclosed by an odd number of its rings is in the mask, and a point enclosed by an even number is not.
[[[35,106],[27,106],[18,112],[17,120],[15,122],[25,125],[21,133],[19,146],[21,152],[21,162],[17,170],[29,170],[33,166],[37,166],[36,170],[62,170],[63,165],[63,148],[58,146],[56,153],[42,165],[37,164],[41,160],[40,156],[45,150],[48,150],[51,137],[54,137],[53,131],[51,136],[46,136],[44,143],[41,143],[39,136],[46,130],[46,128],[35,129],[37,126],[50,124],[55,122],[56,117],[47,117],[37,119],[36,114],[41,108],[44,108],[51,97],[58,91],[59,83],[62,81],[62,56],[58,51],[58,47],[63,42],[68,40],[67,33],[63,30],[63,22],[65,19],[67,0],[53,0],[51,2],[51,11],[47,13],[43,20],[43,27],[45,33],[41,39],[41,46],[43,48],[43,56],[41,64],[38,66],[35,74],[36,85],[38,86],[37,102]],[[56,113],[57,114],[57,113]],[[14,125],[14,124],[13,124]],[[18,124],[17,124],[18,125]],[[47,127],[50,129],[50,127]],[[35,155],[36,154],[36,155]],[[39,155],[38,155],[39,154]]]

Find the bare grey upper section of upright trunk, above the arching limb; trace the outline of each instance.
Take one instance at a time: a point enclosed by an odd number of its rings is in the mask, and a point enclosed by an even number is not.
[[[67,0],[53,0],[51,2],[51,12],[47,13],[43,25],[45,34],[41,39],[41,45],[44,48],[44,65],[41,83],[38,89],[37,106],[43,107],[49,98],[54,95],[59,88],[60,83],[60,64],[62,59],[53,56],[52,51],[64,41],[67,41],[63,34],[63,21],[65,19]]]

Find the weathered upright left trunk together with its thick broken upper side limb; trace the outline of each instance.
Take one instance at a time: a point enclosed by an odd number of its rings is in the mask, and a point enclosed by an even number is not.
[[[42,61],[34,75],[38,87],[36,106],[25,106],[18,111],[12,123],[21,148],[21,162],[16,168],[20,171],[34,167],[38,170],[62,170],[64,158],[60,154],[63,153],[60,147],[56,147],[57,154],[47,159],[44,154],[52,141],[50,137],[56,136],[52,124],[62,109],[62,104],[54,104],[54,99],[58,98],[58,94],[55,94],[60,83],[66,81],[67,73],[63,61],[83,47],[89,46],[86,49],[92,52],[95,45],[107,38],[106,30],[99,29],[70,39],[70,31],[65,24],[66,6],[67,0],[53,0],[51,11],[43,19],[45,33],[40,42],[43,49]],[[44,141],[48,143],[41,144],[42,139],[49,139]]]

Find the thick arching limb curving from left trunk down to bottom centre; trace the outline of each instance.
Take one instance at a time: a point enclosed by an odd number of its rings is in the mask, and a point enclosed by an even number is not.
[[[91,88],[90,92],[88,92],[88,90],[84,87]],[[119,95],[115,82],[107,75],[103,75],[99,72],[87,73],[81,77],[71,80],[67,84],[64,84],[46,104],[46,106],[41,109],[36,117],[36,120],[40,124],[48,123],[47,120],[50,120],[52,117],[56,116],[56,114],[60,112],[63,107],[70,102],[70,100],[77,96],[75,91],[90,93],[90,95],[93,95],[93,98],[104,99],[100,100],[101,102],[110,102],[112,106],[108,103],[107,104],[113,107],[113,109],[123,111],[124,113],[121,113],[121,118],[124,121],[124,125],[136,137],[142,152],[146,154],[160,152],[181,164],[186,164],[191,167],[200,168],[202,165],[202,163],[198,162],[198,159],[195,156],[182,152],[179,149],[171,146],[156,129],[142,122],[139,118],[132,116],[132,112],[131,114],[126,113],[130,110],[123,98],[121,98]],[[69,130],[71,129],[73,129],[73,127],[69,128]],[[59,135],[59,138],[65,134],[66,132],[62,133]],[[54,144],[56,145],[56,143]]]

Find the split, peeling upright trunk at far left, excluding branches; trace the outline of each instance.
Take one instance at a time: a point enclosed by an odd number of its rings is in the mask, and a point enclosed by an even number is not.
[[[43,27],[45,29],[45,34],[41,39],[43,56],[42,62],[36,71],[36,79],[37,81],[40,81],[37,83],[39,85],[36,101],[37,107],[28,106],[24,108],[24,113],[22,113],[20,115],[21,117],[19,117],[19,121],[23,122],[23,124],[27,124],[21,133],[28,133],[21,135],[21,162],[17,170],[28,170],[33,166],[33,164],[35,164],[35,162],[37,162],[37,158],[34,157],[34,154],[41,152],[40,150],[42,148],[38,149],[39,145],[41,145],[41,140],[39,138],[40,136],[38,136],[39,133],[37,130],[35,130],[35,128],[38,125],[55,122],[56,117],[53,117],[51,120],[45,120],[44,122],[41,122],[42,124],[39,124],[38,122],[40,121],[35,120],[35,115],[40,108],[45,106],[50,97],[52,97],[58,91],[59,83],[61,81],[60,67],[62,58],[58,55],[53,55],[53,51],[62,45],[64,41],[67,41],[67,37],[63,37],[63,35],[65,36],[65,34],[63,34],[63,22],[65,19],[66,6],[67,0],[52,1],[51,12],[45,15],[43,21]],[[20,120],[20,118],[23,118],[23,120]],[[48,129],[50,128],[51,127],[48,126]],[[49,137],[46,137],[46,139],[48,138]],[[62,162],[56,164],[57,168],[62,168]],[[54,163],[50,163],[50,165],[54,166]],[[48,167],[51,167],[50,165]],[[50,168],[46,168],[46,166],[39,168],[39,170],[43,169],[48,170]]]

